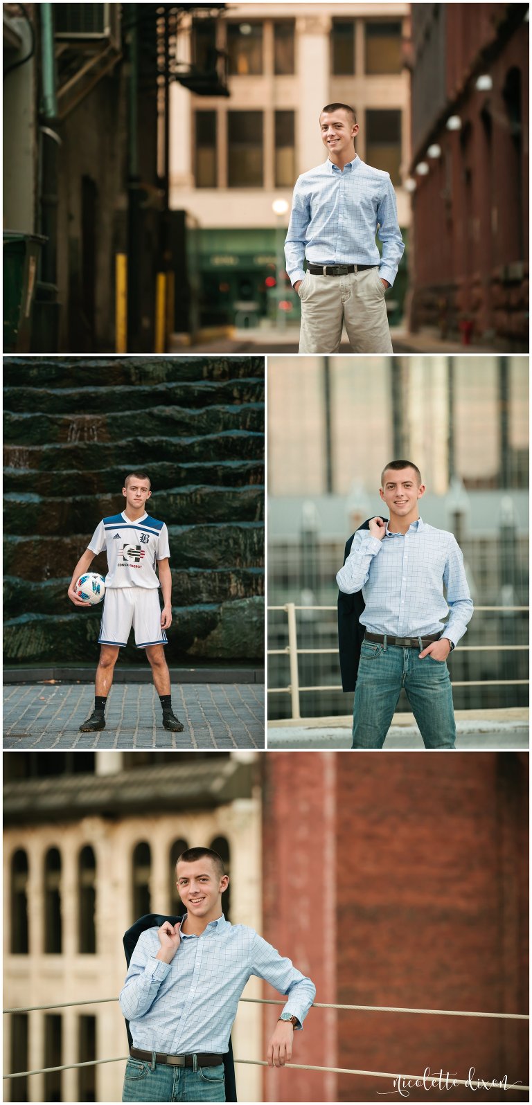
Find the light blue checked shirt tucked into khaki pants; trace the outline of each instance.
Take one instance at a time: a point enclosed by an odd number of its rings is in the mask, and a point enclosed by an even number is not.
[[[379,276],[393,284],[404,249],[389,172],[359,157],[342,171],[327,157],[298,178],[284,243],[292,284],[303,280],[305,256],[322,265],[379,265]]]

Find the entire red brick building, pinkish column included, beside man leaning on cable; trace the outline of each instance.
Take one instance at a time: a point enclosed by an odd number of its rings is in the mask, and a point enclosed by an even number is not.
[[[268,753],[261,767],[263,933],[314,979],[316,1001],[528,1011],[528,756]],[[526,1041],[526,1022],[313,1009],[293,1059],[524,1081]],[[264,1101],[294,1102],[393,1088],[296,1071],[267,1071],[263,1086]]]

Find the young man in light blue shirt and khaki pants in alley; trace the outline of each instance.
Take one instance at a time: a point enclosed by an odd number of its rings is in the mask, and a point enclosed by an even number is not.
[[[389,173],[355,154],[347,104],[327,104],[320,128],[327,159],[298,178],[284,245],[301,299],[300,352],[337,352],[343,323],[354,352],[393,352],[384,296],[405,246]]]

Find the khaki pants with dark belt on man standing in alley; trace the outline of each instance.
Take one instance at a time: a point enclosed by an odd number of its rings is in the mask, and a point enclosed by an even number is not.
[[[346,276],[306,272],[298,288],[300,352],[337,352],[343,323],[353,352],[393,352],[384,293],[376,266]]]

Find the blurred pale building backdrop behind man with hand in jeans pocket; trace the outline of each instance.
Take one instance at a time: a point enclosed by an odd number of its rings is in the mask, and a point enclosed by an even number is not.
[[[335,576],[347,538],[382,513],[380,472],[398,456],[421,471],[424,519],[455,534],[477,608],[449,659],[456,708],[526,705],[528,611],[479,608],[529,601],[528,359],[270,357],[268,396],[268,602],[307,608],[298,646],[330,650],[299,657],[301,686],[331,688],[302,693],[302,716],[351,713],[352,696],[332,690]],[[285,611],[268,624],[269,648],[284,650]],[[498,643],[519,649],[482,651]],[[269,690],[290,682],[288,655],[270,655]],[[269,716],[291,716],[289,694],[270,693]]]

